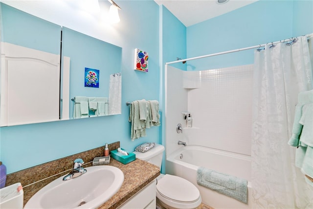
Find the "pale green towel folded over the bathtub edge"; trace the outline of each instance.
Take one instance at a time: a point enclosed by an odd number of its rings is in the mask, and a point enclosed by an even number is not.
[[[197,184],[232,197],[240,202],[246,204],[248,202],[248,182],[245,179],[199,167],[197,170]]]

